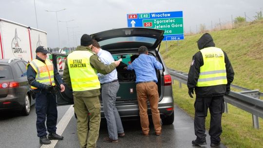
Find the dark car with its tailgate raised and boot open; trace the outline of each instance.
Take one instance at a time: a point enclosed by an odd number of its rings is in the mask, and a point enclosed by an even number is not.
[[[136,95],[136,75],[134,71],[123,70],[131,61],[138,56],[138,48],[146,46],[149,55],[154,56],[157,61],[162,63],[163,69],[156,70],[158,78],[159,103],[158,109],[163,124],[172,124],[174,121],[174,101],[171,86],[171,76],[164,63],[164,60],[158,52],[160,43],[163,39],[163,30],[150,28],[121,28],[99,32],[91,35],[98,41],[103,50],[109,51],[115,60],[122,58],[123,62],[116,68],[119,80],[119,91],[117,92],[116,108],[121,117],[138,117],[139,108]],[[66,55],[53,55],[53,59]],[[57,60],[53,60],[54,65]],[[70,96],[70,97],[69,97]],[[72,92],[69,89],[64,93],[57,95],[57,104],[73,104]],[[101,102],[101,105],[102,102]],[[148,113],[151,115],[150,105]],[[103,107],[101,107],[101,116],[104,117]]]

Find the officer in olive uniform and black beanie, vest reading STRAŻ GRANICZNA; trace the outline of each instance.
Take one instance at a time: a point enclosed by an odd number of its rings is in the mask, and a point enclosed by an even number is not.
[[[84,34],[80,46],[68,55],[63,80],[72,87],[74,111],[77,116],[77,136],[80,148],[95,148],[100,126],[100,83],[97,72],[111,73],[119,61],[104,65],[92,52],[93,39]]]

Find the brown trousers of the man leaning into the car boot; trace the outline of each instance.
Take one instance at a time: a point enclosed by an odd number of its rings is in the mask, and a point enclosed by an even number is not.
[[[155,132],[161,132],[160,112],[158,110],[158,87],[155,82],[139,83],[136,85],[137,100],[140,110],[141,127],[144,134],[149,133],[148,103],[152,114],[152,122]]]

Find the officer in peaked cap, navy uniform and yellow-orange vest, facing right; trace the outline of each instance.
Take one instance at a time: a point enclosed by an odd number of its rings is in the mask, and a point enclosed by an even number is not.
[[[37,131],[39,143],[48,145],[50,140],[62,140],[63,136],[56,134],[56,98],[54,92],[57,79],[60,91],[65,90],[63,81],[47,59],[49,53],[43,46],[36,49],[37,57],[27,65],[27,81],[36,94]],[[46,121],[47,120],[47,121]],[[46,126],[45,126],[46,121]],[[48,138],[46,137],[49,132]]]

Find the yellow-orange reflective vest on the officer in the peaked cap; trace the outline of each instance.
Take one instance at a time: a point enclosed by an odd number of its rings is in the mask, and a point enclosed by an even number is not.
[[[46,64],[45,64],[46,63]],[[32,66],[32,68],[37,73],[36,80],[39,83],[46,84],[46,85],[52,85],[55,86],[54,81],[54,69],[53,64],[49,59],[45,60],[45,63],[41,62],[38,59],[34,59],[29,64]],[[38,89],[34,86],[31,86],[32,89]]]

